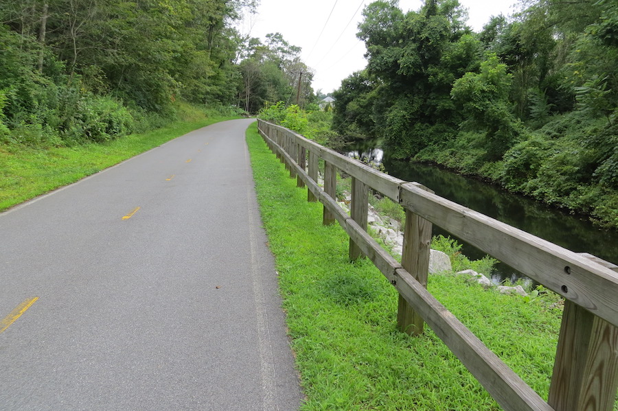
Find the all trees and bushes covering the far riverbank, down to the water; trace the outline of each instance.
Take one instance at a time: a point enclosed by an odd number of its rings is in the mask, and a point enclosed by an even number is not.
[[[475,33],[457,1],[371,3],[367,67],[333,93],[334,130],[618,228],[615,5],[527,1]]]

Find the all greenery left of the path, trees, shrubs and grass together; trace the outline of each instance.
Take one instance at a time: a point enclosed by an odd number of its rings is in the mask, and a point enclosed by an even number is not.
[[[235,28],[254,0],[0,2],[0,210],[297,92],[300,49]]]

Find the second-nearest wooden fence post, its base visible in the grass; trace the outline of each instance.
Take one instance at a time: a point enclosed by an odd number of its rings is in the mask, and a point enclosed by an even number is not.
[[[418,183],[408,184],[433,193],[433,191]],[[429,255],[431,253],[431,228],[431,222],[412,211],[406,210],[401,265],[425,288],[427,287]],[[397,307],[398,329],[411,336],[418,336],[423,333],[423,324],[422,317],[400,295]]]

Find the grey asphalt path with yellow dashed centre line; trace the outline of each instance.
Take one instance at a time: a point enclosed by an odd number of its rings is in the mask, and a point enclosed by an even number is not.
[[[0,214],[0,410],[299,408],[251,121]]]

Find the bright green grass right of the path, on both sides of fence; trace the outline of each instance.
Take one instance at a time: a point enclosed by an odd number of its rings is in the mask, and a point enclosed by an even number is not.
[[[303,410],[499,410],[426,329],[396,331],[397,294],[368,260],[347,260],[338,225],[306,201],[255,131],[247,134],[262,220],[275,254]],[[431,276],[429,290],[547,399],[560,327],[555,298],[484,291],[461,276]]]

